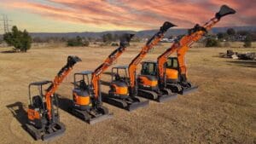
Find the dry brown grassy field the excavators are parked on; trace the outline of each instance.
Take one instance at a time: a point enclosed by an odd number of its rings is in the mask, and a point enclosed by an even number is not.
[[[131,43],[114,65],[128,64],[143,43]],[[170,43],[162,43],[145,60],[156,60]],[[52,80],[67,62],[67,55],[83,61],[74,66],[57,93],[71,99],[73,73],[94,70],[115,47],[38,47],[25,53],[6,53],[0,48],[0,143],[47,143],[34,141],[21,124],[28,105],[29,83]],[[148,107],[126,112],[106,103],[113,118],[90,125],[60,110],[64,135],[49,143],[256,143],[256,62],[218,58],[230,48],[189,49],[189,80],[198,91],[178,95],[166,103],[150,101]],[[253,51],[239,49],[235,51]],[[108,69],[110,72],[110,68]],[[139,71],[138,71],[139,72]],[[102,75],[108,82],[110,76]],[[102,85],[103,92],[108,86]],[[62,104],[63,105],[63,104]]]

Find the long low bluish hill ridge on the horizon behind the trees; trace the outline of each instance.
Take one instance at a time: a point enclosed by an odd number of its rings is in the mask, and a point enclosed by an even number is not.
[[[234,28],[237,31],[250,31],[256,32],[256,26],[235,26],[235,27],[214,27],[212,28],[212,33],[217,34],[218,32],[226,32],[228,28]],[[137,37],[151,37],[158,30],[145,30],[145,31],[108,31],[108,32],[66,32],[66,33],[44,33],[44,32],[35,32],[30,33],[32,37],[102,37],[103,34],[112,33],[112,34],[122,34],[122,33],[135,33]],[[172,29],[166,33],[166,37],[183,35],[188,32],[187,29]]]

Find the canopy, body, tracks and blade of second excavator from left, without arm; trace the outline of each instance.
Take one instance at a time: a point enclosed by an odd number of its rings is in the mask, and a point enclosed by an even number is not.
[[[101,101],[95,98],[91,84],[93,72],[83,71],[74,74],[73,106],[71,112],[89,124],[96,124],[111,118],[108,109],[100,105]],[[101,94],[100,94],[101,95]]]

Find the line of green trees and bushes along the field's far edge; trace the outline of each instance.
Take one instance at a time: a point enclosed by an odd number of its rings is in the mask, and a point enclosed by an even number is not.
[[[182,36],[178,36],[182,37]],[[173,37],[172,37],[173,38]],[[238,38],[238,39],[237,39]],[[240,38],[240,39],[239,39]],[[218,47],[220,42],[233,42],[243,41],[244,47],[249,48],[252,46],[252,41],[255,40],[255,33],[247,31],[236,32],[233,28],[229,28],[226,32],[219,32],[217,35],[207,35],[204,43],[206,47]],[[10,46],[14,46],[15,51],[26,52],[31,48],[32,43],[67,43],[67,46],[83,46],[87,47],[92,42],[103,42],[108,45],[112,43],[113,46],[118,46],[119,35],[106,33],[102,37],[31,37],[26,30],[20,31],[17,26],[13,26],[11,32],[3,34],[3,41],[8,43]],[[133,41],[139,42],[139,37],[134,37]],[[113,43],[114,42],[114,43]],[[1,41],[0,41],[1,43]]]

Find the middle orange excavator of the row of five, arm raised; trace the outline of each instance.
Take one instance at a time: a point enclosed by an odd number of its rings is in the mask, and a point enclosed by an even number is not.
[[[137,65],[143,60],[143,57],[148,54],[148,51],[160,42],[166,31],[175,26],[170,22],[165,22],[160,27],[154,37],[148,40],[148,43],[143,47],[141,52],[131,60],[129,66],[116,66],[112,68],[112,82],[107,96],[103,96],[103,101],[109,104],[131,111],[138,107],[148,105],[148,100],[137,97]],[[128,76],[129,75],[129,76]],[[145,95],[152,95],[147,93]]]

